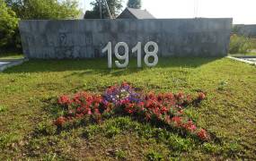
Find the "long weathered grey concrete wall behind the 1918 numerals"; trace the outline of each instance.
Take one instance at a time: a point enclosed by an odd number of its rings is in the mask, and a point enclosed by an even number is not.
[[[225,56],[232,19],[20,21],[19,28],[28,58],[102,57],[109,41],[129,50],[154,41],[160,56]]]

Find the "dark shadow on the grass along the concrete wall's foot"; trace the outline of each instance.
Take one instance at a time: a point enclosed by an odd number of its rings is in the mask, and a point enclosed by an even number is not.
[[[214,62],[222,57],[169,57],[160,58],[156,68],[197,68],[203,64]],[[143,60],[142,60],[143,61]],[[144,64],[144,62],[143,62]],[[115,63],[113,61],[113,66]],[[105,59],[87,59],[87,60],[30,60],[22,65],[10,68],[4,73],[19,73],[19,72],[68,72],[68,71],[84,71],[80,73],[74,72],[73,74],[92,74],[101,73],[111,74],[115,76],[126,75],[133,72],[139,72],[147,69],[145,66],[142,69],[137,68],[137,60],[132,59],[129,61],[128,68],[126,69],[108,69],[107,58]]]

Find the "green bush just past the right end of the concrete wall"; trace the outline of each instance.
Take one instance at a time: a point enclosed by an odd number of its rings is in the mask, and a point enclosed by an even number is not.
[[[252,49],[250,38],[243,36],[232,35],[230,38],[229,53],[230,54],[245,54]]]

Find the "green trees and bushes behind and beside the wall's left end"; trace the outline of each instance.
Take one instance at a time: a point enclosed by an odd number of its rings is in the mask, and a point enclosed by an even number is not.
[[[76,19],[81,13],[77,0],[5,0],[5,2],[0,0],[0,47],[8,45],[9,48],[21,48],[21,38],[17,28],[18,18]]]

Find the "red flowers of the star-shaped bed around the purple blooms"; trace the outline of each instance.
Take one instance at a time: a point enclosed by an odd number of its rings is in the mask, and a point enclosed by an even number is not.
[[[127,82],[123,82],[121,86],[111,86],[106,91],[107,93],[115,93],[119,91],[120,87],[130,89],[131,86]],[[134,89],[135,91],[135,89]],[[141,93],[137,93],[138,95]],[[65,108],[65,116],[60,116],[54,122],[61,127],[64,123],[70,122],[74,119],[83,117],[93,117],[97,123],[102,121],[102,114],[111,114],[115,112],[114,109],[119,109],[123,114],[134,114],[142,117],[146,121],[156,119],[169,124],[170,126],[181,128],[184,131],[191,132],[197,135],[200,140],[208,140],[209,136],[206,130],[198,130],[197,126],[183,115],[184,107],[189,106],[194,101],[201,101],[206,98],[203,92],[198,93],[198,97],[191,98],[190,95],[184,95],[179,92],[176,95],[172,93],[154,94],[149,92],[141,94],[138,101],[131,101],[129,98],[123,98],[117,104],[109,101],[104,95],[94,95],[87,92],[79,92],[68,97],[66,95],[58,98],[58,104],[68,106]],[[123,108],[124,107],[124,108]],[[173,116],[174,115],[174,116]]]

